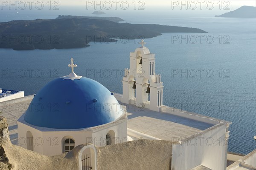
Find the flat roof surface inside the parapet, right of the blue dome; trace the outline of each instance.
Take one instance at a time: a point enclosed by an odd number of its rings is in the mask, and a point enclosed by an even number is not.
[[[122,103],[121,103],[122,104]],[[214,124],[127,105],[128,128],[162,140],[185,139]]]

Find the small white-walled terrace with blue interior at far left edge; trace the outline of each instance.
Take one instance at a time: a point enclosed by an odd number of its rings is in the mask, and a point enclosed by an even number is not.
[[[24,97],[23,91],[0,89],[0,102]]]

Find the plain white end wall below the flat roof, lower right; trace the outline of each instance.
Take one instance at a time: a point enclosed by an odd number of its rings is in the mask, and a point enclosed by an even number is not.
[[[200,164],[211,170],[226,169],[229,133],[226,130],[227,124],[218,124],[182,144],[174,144],[172,170],[190,170]]]

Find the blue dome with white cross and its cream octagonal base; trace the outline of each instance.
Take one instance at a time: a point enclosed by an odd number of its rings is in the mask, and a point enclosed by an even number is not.
[[[125,108],[102,84],[76,75],[73,58],[68,66],[72,72],[44,86],[18,119],[19,146],[54,156],[79,144],[127,141]]]

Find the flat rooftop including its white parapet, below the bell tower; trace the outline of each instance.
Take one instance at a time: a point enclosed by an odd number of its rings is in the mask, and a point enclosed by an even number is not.
[[[163,106],[160,112],[155,112],[121,103],[122,94],[114,93],[114,96],[120,104],[127,107],[128,129],[161,140],[186,141],[186,139],[200,135],[220,124],[231,124],[228,121],[168,106]],[[129,130],[128,135],[131,135]]]

